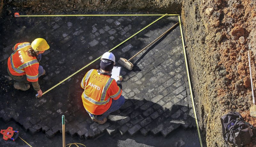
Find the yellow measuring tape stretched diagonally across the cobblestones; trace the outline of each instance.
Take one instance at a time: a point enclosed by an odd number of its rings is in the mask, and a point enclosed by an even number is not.
[[[156,21],[158,21],[159,19],[163,18],[164,16],[166,16],[167,14],[164,14],[163,16],[161,16],[160,18],[157,18],[155,21],[153,21],[152,23],[150,23],[148,26],[154,24]],[[146,29],[148,26],[145,26],[143,29],[141,29],[140,31],[138,31],[137,33],[133,34],[132,36],[130,36],[129,38],[127,38],[126,40],[124,40],[123,42],[119,43],[117,46],[115,46],[114,48],[110,49],[108,52],[112,51],[113,49],[117,48],[118,46],[120,46],[121,44],[123,44],[125,41],[131,39],[133,36],[137,35],[138,33],[140,33],[141,31],[143,31],[144,29]],[[102,55],[101,55],[102,56]],[[100,57],[101,57],[100,56]],[[43,93],[43,95],[47,92],[49,92],[50,90],[52,90],[53,88],[57,87],[58,85],[60,85],[61,83],[63,83],[64,81],[66,81],[67,79],[69,79],[70,77],[74,76],[75,74],[77,74],[78,72],[80,72],[81,70],[83,70],[84,68],[86,68],[87,66],[91,65],[93,62],[97,61],[98,59],[100,59],[100,57],[96,58],[95,60],[93,60],[92,62],[90,62],[89,64],[85,65],[83,68],[81,68],[80,70],[77,70],[75,73],[73,73],[72,75],[68,76],[67,78],[65,78],[64,80],[60,81],[60,83],[54,85],[52,88],[48,89],[47,91],[45,91]]]

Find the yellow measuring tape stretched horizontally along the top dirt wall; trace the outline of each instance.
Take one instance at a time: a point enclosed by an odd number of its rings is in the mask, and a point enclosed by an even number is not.
[[[20,15],[20,17],[70,17],[70,16],[162,16],[164,14],[63,14],[63,15]],[[180,14],[167,14],[167,16],[180,16]]]

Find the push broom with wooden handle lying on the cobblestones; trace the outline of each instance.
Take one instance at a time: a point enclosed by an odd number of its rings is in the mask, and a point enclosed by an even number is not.
[[[133,64],[132,62],[130,62],[135,56],[139,55],[143,50],[145,50],[146,48],[148,48],[150,45],[152,45],[153,43],[155,43],[157,40],[159,40],[161,37],[163,37],[167,32],[169,32],[170,30],[172,30],[172,28],[174,28],[176,25],[178,25],[179,23],[177,22],[174,26],[172,26],[170,29],[168,29],[167,31],[165,31],[162,35],[160,35],[159,37],[157,37],[154,41],[152,41],[150,44],[148,44],[145,48],[141,49],[137,54],[135,54],[134,56],[132,56],[132,58],[130,58],[129,60],[126,60],[124,58],[120,58],[118,60],[118,63],[122,66],[124,66],[126,69],[128,70],[132,70]]]

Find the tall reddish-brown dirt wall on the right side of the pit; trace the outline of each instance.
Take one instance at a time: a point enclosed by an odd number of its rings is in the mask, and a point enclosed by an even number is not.
[[[255,8],[255,1],[245,0],[183,1],[189,67],[207,146],[225,146],[220,117],[229,111],[238,111],[256,124],[249,116],[252,92],[247,54],[250,49],[255,77]]]

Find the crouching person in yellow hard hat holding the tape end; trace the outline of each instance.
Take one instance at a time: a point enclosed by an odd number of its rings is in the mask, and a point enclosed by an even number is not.
[[[13,53],[8,58],[7,72],[15,81],[14,88],[26,91],[30,88],[29,82],[33,88],[42,96],[43,92],[38,84],[38,77],[45,74],[45,70],[39,65],[42,53],[49,49],[49,45],[43,38],[37,38],[32,43],[17,43],[12,48]]]

